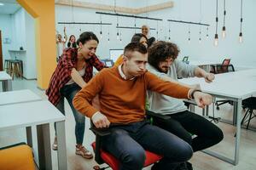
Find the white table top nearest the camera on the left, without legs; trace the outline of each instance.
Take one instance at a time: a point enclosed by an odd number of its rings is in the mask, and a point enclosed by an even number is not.
[[[65,116],[48,100],[0,106],[0,131],[64,120]]]

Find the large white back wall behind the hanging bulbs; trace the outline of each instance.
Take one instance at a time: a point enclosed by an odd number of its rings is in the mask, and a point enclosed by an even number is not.
[[[89,2],[89,1],[88,1]],[[92,1],[90,1],[92,2]],[[137,1],[130,1],[134,6],[137,5]],[[165,0],[158,1],[158,3],[165,3]],[[192,22],[201,22],[211,25],[209,27],[209,38],[207,39],[207,27],[201,26],[202,42],[199,43],[199,29],[200,26],[190,26],[191,31],[191,42],[188,42],[188,31],[189,26],[179,23],[170,23],[171,26],[171,38],[172,42],[176,42],[181,49],[180,58],[184,55],[189,55],[189,59],[205,59],[212,61],[220,61],[224,58],[230,58],[231,63],[235,66],[249,66],[255,67],[256,65],[256,49],[253,47],[253,38],[256,37],[255,24],[256,18],[254,8],[256,8],[256,1],[247,0],[243,1],[243,25],[242,32],[244,35],[244,41],[238,42],[238,34],[240,32],[240,0],[227,0],[226,1],[226,30],[227,37],[223,39],[221,37],[221,30],[223,26],[223,1],[218,1],[218,46],[213,46],[214,34],[215,34],[215,11],[216,1],[203,1],[203,0],[173,0],[174,7],[166,8],[164,10],[155,11],[151,13],[141,14],[142,16],[154,17],[163,19],[163,21],[156,22],[154,20],[136,20],[137,26],[148,24],[148,26],[159,28],[160,40],[167,40],[169,22],[166,20],[186,20]],[[201,2],[201,10],[200,10]],[[110,3],[112,4],[112,3]],[[118,6],[125,4],[125,1],[117,2]],[[139,7],[145,6],[146,4],[155,4],[155,1],[148,0],[138,3]],[[73,13],[72,13],[73,11]],[[201,12],[200,12],[201,11]],[[88,8],[73,8],[68,6],[55,5],[55,22],[56,30],[60,31],[63,35],[63,25],[58,25],[58,21],[75,21],[75,22],[100,22],[100,15],[95,14],[96,10]],[[104,11],[106,12],[106,11]],[[110,11],[113,12],[113,11]],[[130,42],[134,30],[122,29],[123,41],[119,42],[116,40],[116,17],[109,15],[102,15],[102,22],[111,22],[112,26],[109,26],[110,31],[110,42],[108,43],[108,26],[102,26],[103,37],[100,40],[100,44],[97,50],[102,58],[108,57],[109,48],[124,48],[125,44]],[[134,26],[135,20],[132,18],[119,17],[119,26]],[[100,26],[66,26],[67,35],[74,34],[76,37],[79,36],[79,29],[82,31],[94,31],[99,37]],[[140,30],[137,30],[140,32]],[[151,31],[151,35],[156,36],[156,31]]]

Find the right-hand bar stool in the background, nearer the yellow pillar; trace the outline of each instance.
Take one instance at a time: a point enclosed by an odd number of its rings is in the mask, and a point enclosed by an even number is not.
[[[23,63],[20,59],[9,60],[9,75],[14,79],[15,77],[23,78]]]

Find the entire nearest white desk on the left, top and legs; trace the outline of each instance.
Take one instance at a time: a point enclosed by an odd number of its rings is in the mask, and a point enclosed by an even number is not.
[[[56,122],[58,167],[67,170],[65,116],[48,100],[0,106],[0,131],[37,126],[40,169],[52,169],[49,123]],[[27,143],[32,146],[31,128],[26,129]]]

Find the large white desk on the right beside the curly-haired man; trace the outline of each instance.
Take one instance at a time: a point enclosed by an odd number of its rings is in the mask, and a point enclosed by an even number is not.
[[[206,152],[221,160],[237,165],[239,161],[239,144],[241,137],[241,101],[256,95],[256,69],[218,74],[215,75],[215,80],[212,83],[205,82],[203,78],[186,78],[180,79],[179,81],[187,84],[200,83],[203,92],[235,102],[236,145],[234,159],[230,159],[210,150],[206,150]]]

